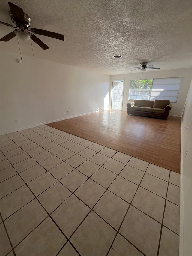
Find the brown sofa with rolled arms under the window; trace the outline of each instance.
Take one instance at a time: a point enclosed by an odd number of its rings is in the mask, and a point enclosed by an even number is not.
[[[143,101],[134,100],[127,104],[127,113],[139,116],[152,116],[167,119],[172,105],[169,100]]]

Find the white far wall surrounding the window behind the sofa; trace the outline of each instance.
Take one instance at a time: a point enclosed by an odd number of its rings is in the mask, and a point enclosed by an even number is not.
[[[163,70],[163,71],[158,70],[158,71],[152,71],[152,72],[146,71],[143,73],[143,79],[165,78],[165,77],[166,78],[167,77],[183,77],[177,103],[171,103],[173,105],[173,108],[170,111],[170,115],[174,115],[174,116],[181,115],[183,112],[185,100],[187,97],[187,92],[189,90],[189,86],[191,82],[191,68],[181,68],[181,69],[172,69],[172,70]],[[131,80],[137,80],[141,78],[142,78],[142,72],[111,76],[111,81],[125,79],[122,110],[127,110],[126,104],[129,102],[132,102],[132,100],[131,101],[128,100]],[[127,93],[127,96],[125,95],[126,93]]]

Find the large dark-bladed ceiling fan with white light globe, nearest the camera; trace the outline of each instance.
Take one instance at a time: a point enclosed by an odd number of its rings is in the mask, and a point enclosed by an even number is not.
[[[10,32],[8,35],[1,38],[0,41],[7,42],[15,36],[17,36],[23,41],[28,41],[29,39],[32,39],[36,44],[38,44],[44,50],[49,49],[49,47],[46,44],[44,44],[44,42],[42,42],[34,34],[49,36],[49,37],[64,41],[64,35],[61,35],[55,32],[50,32],[43,29],[30,28],[31,19],[26,13],[23,12],[23,9],[17,5],[14,5],[11,2],[8,2],[8,4],[10,7],[9,15],[15,26],[2,21],[0,21],[0,23],[16,29],[13,32]]]

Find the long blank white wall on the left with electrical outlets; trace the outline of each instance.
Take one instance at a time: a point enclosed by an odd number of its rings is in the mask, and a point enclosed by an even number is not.
[[[109,75],[28,56],[18,64],[16,58],[1,51],[1,134],[93,112],[97,106],[102,110],[104,101],[108,108]]]

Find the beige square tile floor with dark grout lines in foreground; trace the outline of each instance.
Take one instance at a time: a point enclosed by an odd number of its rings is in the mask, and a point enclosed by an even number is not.
[[[180,175],[47,125],[0,136],[1,256],[179,255]]]

